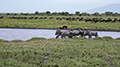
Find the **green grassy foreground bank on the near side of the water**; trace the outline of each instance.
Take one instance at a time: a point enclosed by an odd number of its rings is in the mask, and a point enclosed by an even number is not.
[[[0,67],[119,67],[120,39],[0,40]],[[47,63],[44,56],[49,54]]]

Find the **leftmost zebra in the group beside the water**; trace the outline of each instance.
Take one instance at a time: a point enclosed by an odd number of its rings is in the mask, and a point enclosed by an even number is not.
[[[70,33],[69,30],[68,31],[61,31],[60,29],[57,29],[55,35],[57,35],[56,38],[58,38],[59,36],[61,36],[61,38],[66,38],[66,36],[68,38],[73,37],[73,35]]]

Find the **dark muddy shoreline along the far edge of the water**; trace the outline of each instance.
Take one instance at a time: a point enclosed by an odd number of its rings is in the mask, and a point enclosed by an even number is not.
[[[9,28],[9,29],[48,29],[48,30],[56,30],[58,28],[35,28],[35,27],[0,27],[0,28]],[[71,28],[68,29],[62,29],[62,30],[69,30]],[[73,29],[73,30],[77,30],[77,29]],[[111,29],[89,29],[92,31],[109,31],[109,32],[120,32],[120,30],[111,30]]]

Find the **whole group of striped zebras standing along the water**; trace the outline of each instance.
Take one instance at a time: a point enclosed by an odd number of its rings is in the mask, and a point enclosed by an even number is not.
[[[61,38],[66,38],[66,37],[73,38],[74,36],[79,36],[79,37],[88,36],[89,39],[91,39],[92,36],[98,37],[97,31],[81,30],[81,29],[67,30],[67,31],[61,31],[60,29],[57,29],[55,35],[56,38],[58,38],[59,36],[61,36]]]

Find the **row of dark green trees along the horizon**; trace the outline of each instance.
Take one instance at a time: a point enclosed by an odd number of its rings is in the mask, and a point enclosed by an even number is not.
[[[0,13],[1,15],[2,13]],[[98,12],[95,12],[95,13],[86,13],[86,12],[83,12],[83,13],[80,13],[79,11],[76,11],[75,13],[69,13],[69,12],[50,12],[50,11],[46,11],[46,12],[38,12],[36,11],[35,13],[5,13],[6,15],[41,15],[41,16],[120,16],[120,13],[113,13],[113,12],[105,12],[105,13],[98,13]]]

